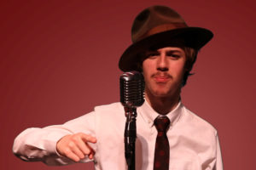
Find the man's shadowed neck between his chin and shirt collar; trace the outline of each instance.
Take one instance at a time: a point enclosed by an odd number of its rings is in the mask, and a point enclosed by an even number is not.
[[[154,109],[154,111],[158,112],[160,115],[166,115],[177,106],[180,95],[179,93],[174,94],[173,96],[161,97],[154,96],[150,93],[145,93],[145,98],[148,101],[148,104]]]

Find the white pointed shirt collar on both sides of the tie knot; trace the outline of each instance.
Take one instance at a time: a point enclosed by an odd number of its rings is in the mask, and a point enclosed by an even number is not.
[[[170,111],[166,116],[169,118],[171,122],[171,126],[173,126],[179,119],[182,113],[183,104],[181,103],[181,100],[178,102],[177,106]],[[150,127],[154,126],[154,119],[157,116],[160,116],[159,113],[154,111],[154,109],[151,107],[151,105],[148,104],[147,100],[145,99],[145,102],[143,105],[138,109],[138,113],[143,116],[143,120],[148,123]]]

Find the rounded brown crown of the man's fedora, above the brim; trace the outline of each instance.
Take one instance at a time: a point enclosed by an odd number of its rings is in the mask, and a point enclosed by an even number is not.
[[[131,40],[138,42],[162,31],[188,27],[183,18],[172,8],[152,6],[137,15],[131,27]]]

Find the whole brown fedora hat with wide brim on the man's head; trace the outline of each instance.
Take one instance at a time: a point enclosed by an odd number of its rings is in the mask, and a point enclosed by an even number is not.
[[[213,37],[212,31],[189,27],[172,8],[152,6],[137,15],[131,27],[132,44],[119,59],[121,71],[136,71],[137,62],[149,49],[190,47],[199,50]]]

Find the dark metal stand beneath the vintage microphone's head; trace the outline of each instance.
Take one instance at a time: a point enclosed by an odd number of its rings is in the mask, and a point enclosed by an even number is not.
[[[136,107],[125,106],[125,159],[128,170],[135,170],[135,143],[137,138]]]

